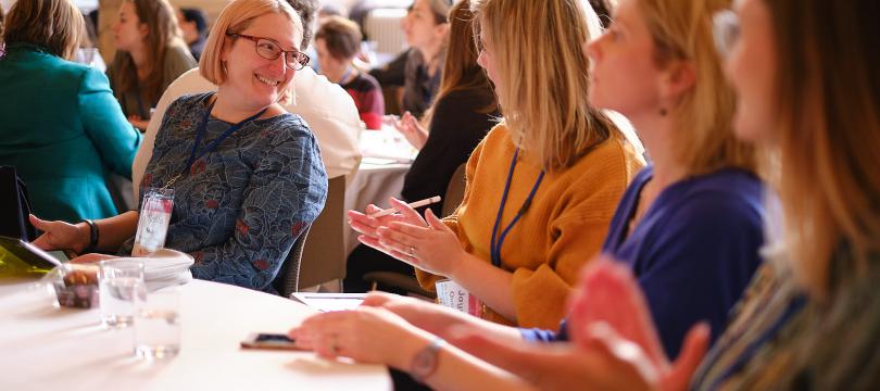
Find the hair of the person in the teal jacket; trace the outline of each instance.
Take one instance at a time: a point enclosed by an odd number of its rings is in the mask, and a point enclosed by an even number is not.
[[[2,40],[7,47],[30,43],[72,60],[85,30],[83,13],[70,0],[18,0],[7,15]]]

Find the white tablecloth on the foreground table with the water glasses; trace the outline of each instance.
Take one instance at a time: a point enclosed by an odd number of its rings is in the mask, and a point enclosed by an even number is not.
[[[0,279],[0,390],[391,389],[384,366],[239,348],[250,332],[284,332],[313,313],[291,300],[190,282],[180,354],[147,363],[133,356],[133,329],[103,329],[98,310],[54,308],[30,282]]]

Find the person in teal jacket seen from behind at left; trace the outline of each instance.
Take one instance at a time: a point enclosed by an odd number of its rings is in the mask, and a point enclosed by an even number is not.
[[[115,216],[104,177],[130,178],[140,146],[106,76],[68,61],[84,23],[71,0],[18,0],[7,18],[0,165],[15,166],[43,218]]]

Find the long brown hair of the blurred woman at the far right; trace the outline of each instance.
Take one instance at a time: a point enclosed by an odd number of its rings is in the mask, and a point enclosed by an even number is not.
[[[852,255],[838,270],[878,266],[869,257],[880,251],[880,27],[865,17],[876,1],[765,0],[785,241],[796,276],[819,297],[831,293],[835,251]]]

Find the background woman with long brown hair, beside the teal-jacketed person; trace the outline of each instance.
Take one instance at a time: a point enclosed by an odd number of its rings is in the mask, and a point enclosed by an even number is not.
[[[165,88],[196,66],[167,0],[125,0],[113,25],[116,55],[106,70],[128,121],[147,129]]]

